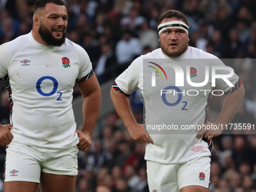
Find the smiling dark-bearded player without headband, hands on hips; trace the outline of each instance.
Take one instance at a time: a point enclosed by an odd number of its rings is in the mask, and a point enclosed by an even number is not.
[[[11,124],[0,124],[6,146],[5,192],[73,192],[78,151],[88,151],[99,115],[100,88],[86,51],[66,38],[62,0],[35,3],[32,32],[0,46],[0,80],[8,88]],[[75,83],[83,125],[72,111]]]

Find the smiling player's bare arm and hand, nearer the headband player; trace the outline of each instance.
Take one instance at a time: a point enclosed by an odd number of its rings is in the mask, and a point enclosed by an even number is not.
[[[77,84],[83,96],[82,130],[76,130],[79,137],[78,149],[81,151],[88,151],[92,145],[93,130],[99,116],[101,92],[99,82],[95,74],[93,74],[87,81]]]

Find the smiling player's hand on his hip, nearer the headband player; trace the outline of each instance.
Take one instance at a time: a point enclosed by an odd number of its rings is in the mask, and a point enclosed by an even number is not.
[[[79,130],[76,130],[75,133],[78,133],[79,137],[78,149],[84,152],[89,151],[90,146],[92,146],[92,136],[90,133],[84,133]]]

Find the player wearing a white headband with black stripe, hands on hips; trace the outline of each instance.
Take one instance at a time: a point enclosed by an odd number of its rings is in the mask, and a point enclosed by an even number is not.
[[[207,192],[210,182],[210,162],[213,150],[212,138],[220,133],[210,133],[202,130],[196,134],[143,134],[144,126],[136,123],[130,108],[127,96],[140,88],[145,101],[145,125],[152,119],[155,124],[171,125],[195,125],[208,122],[208,98],[209,96],[186,96],[182,100],[187,102],[186,110],[181,110],[181,102],[175,106],[166,105],[159,93],[159,88],[147,90],[143,87],[143,59],[170,59],[183,69],[190,65],[184,61],[200,59],[197,76],[203,76],[200,68],[211,67],[209,60],[214,60],[220,66],[224,66],[216,56],[188,46],[189,23],[187,18],[179,11],[166,11],[158,22],[160,48],[135,59],[115,80],[111,88],[111,99],[117,113],[123,120],[130,136],[136,142],[147,142],[145,160],[147,160],[148,185],[150,191],[157,192]],[[208,62],[206,62],[207,59]],[[197,63],[195,64],[197,65]],[[221,71],[221,70],[220,70]],[[222,72],[222,71],[221,71]],[[168,76],[168,74],[167,74]],[[169,76],[170,77],[170,76]],[[172,76],[173,77],[173,76]],[[168,78],[166,84],[172,84],[174,77]],[[211,78],[209,78],[211,79]],[[227,93],[221,113],[216,124],[230,123],[239,108],[244,96],[244,87],[237,75],[229,78],[235,87],[227,86],[222,79],[216,81],[216,87]],[[200,81],[201,82],[201,81]],[[160,87],[162,84],[157,84]],[[187,85],[180,87],[185,90]],[[206,84],[207,89],[212,89],[212,82]],[[160,88],[161,89],[161,88]],[[163,88],[162,88],[163,89]],[[194,87],[200,90],[201,87]],[[155,91],[157,90],[157,91]]]

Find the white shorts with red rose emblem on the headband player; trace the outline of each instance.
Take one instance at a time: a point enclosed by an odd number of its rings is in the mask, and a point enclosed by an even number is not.
[[[186,163],[162,164],[147,160],[149,191],[178,192],[182,187],[209,188],[211,157],[197,157]]]

